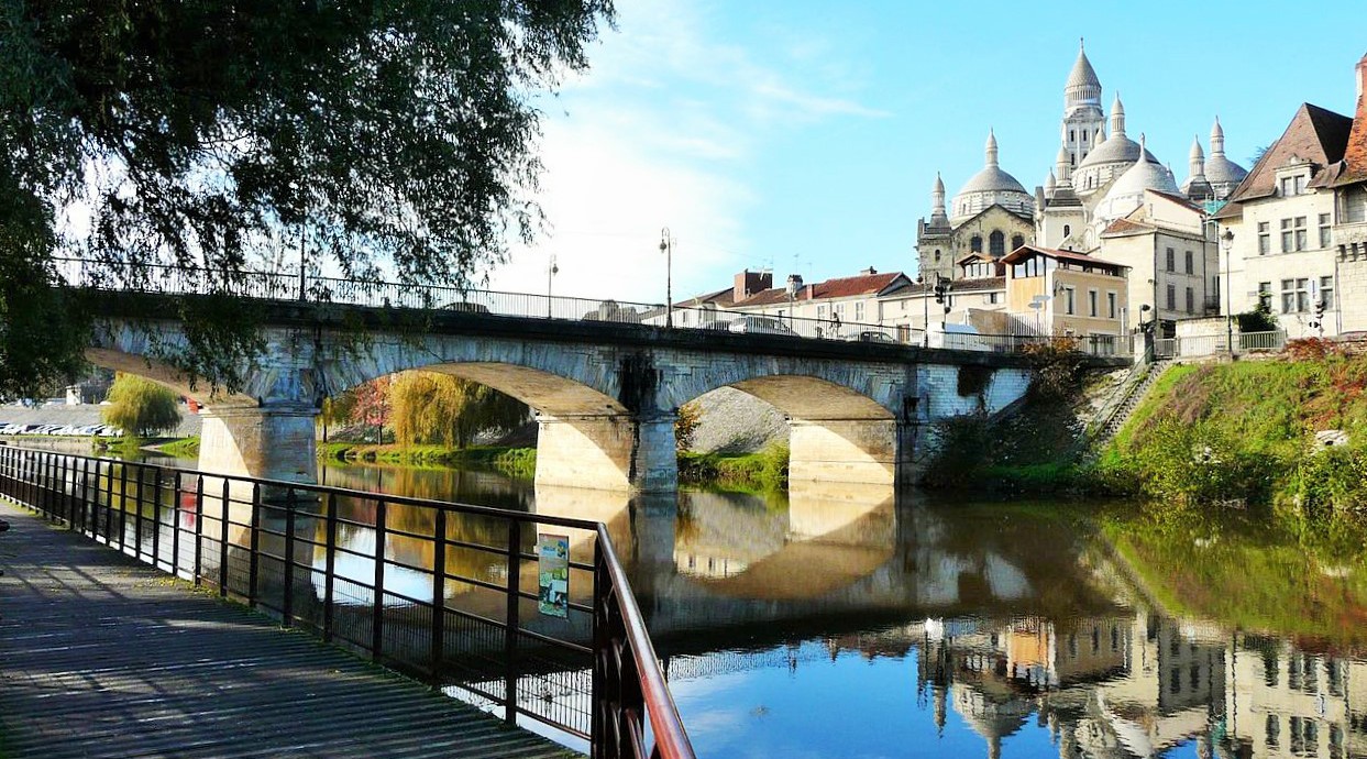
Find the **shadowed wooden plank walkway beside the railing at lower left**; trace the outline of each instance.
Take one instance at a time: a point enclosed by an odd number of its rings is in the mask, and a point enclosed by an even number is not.
[[[0,502],[0,759],[571,752]]]

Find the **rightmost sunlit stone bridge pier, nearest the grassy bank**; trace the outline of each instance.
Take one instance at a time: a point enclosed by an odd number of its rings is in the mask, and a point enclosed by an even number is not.
[[[790,420],[790,483],[897,485],[913,475],[917,425],[891,418]]]

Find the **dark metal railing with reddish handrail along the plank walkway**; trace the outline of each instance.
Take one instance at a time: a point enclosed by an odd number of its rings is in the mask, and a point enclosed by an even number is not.
[[[0,494],[595,759],[693,756],[601,522],[8,446]]]

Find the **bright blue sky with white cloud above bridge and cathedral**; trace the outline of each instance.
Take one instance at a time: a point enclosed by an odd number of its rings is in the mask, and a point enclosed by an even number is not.
[[[1360,0],[619,0],[618,12],[592,68],[540,100],[551,227],[489,272],[495,289],[543,293],[555,254],[556,295],[660,302],[662,226],[677,299],[742,268],[915,276],[935,172],[953,196],[990,127],[1002,168],[1043,183],[1079,37],[1107,111],[1118,89],[1126,133],[1146,133],[1178,182],[1217,114],[1245,167],[1304,101],[1351,115],[1367,52],[1351,31],[1367,23]]]

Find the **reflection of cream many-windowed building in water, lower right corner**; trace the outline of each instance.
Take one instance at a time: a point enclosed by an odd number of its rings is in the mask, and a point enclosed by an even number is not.
[[[1239,756],[1367,756],[1367,665],[1244,636],[1229,669]]]

